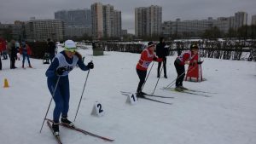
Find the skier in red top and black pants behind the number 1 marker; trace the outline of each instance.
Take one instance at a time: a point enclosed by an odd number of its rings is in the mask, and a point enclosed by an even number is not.
[[[136,71],[137,71],[137,75],[140,78],[140,82],[137,86],[137,97],[144,97],[142,88],[143,88],[143,84],[145,83],[145,78],[147,76],[147,70],[148,70],[148,66],[149,64],[154,60],[154,61],[162,61],[161,58],[157,58],[154,55],[154,47],[155,44],[152,42],[148,42],[148,48],[143,49],[143,52],[141,54],[140,60],[137,62],[137,66],[136,66]]]

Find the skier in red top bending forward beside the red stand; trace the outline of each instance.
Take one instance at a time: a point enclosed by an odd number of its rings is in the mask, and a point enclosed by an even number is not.
[[[190,50],[179,55],[174,61],[174,66],[177,72],[176,87],[175,90],[183,91],[187,89],[183,87],[183,79],[185,77],[185,65],[195,65],[198,61],[198,46],[197,44],[191,44]]]

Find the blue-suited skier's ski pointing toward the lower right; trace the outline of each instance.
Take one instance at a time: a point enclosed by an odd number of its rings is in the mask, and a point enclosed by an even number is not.
[[[50,121],[51,123],[53,123],[53,120],[51,120],[51,119],[46,118],[46,120],[48,120],[48,121]],[[63,127],[66,127],[66,128],[68,128],[68,129],[71,129],[71,130],[79,131],[79,132],[83,133],[84,135],[90,135],[90,136],[94,136],[94,137],[96,137],[96,138],[100,138],[100,139],[102,139],[102,140],[104,140],[104,141],[114,141],[113,139],[109,139],[109,138],[104,137],[104,136],[101,136],[101,135],[96,135],[96,134],[93,134],[93,133],[91,133],[91,132],[89,132],[89,131],[79,129],[79,128],[77,128],[77,127],[69,126],[68,124],[60,123],[59,125],[61,125],[61,126],[63,126]]]

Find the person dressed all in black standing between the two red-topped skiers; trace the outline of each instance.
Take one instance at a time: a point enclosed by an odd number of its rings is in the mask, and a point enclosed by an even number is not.
[[[160,37],[160,43],[156,45],[156,55],[159,58],[162,58],[163,61],[158,62],[158,67],[157,67],[157,78],[160,78],[160,67],[163,63],[163,68],[164,68],[164,77],[167,78],[166,75],[166,56],[168,55],[168,49],[166,48],[166,43],[165,43],[165,37]]]

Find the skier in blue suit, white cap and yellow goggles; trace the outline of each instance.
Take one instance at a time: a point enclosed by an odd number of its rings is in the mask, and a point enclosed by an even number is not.
[[[76,49],[77,46],[73,40],[67,40],[64,43],[64,50],[55,56],[52,63],[49,65],[49,68],[45,72],[49,92],[51,95],[54,95],[53,99],[55,101],[55,109],[53,112],[54,123],[52,124],[54,135],[59,135],[58,123],[60,117],[61,123],[73,126],[73,123],[67,119],[70,97],[68,73],[77,65],[83,71],[93,69],[94,67],[92,62],[89,62],[87,66],[85,66],[82,61],[82,55],[80,55]],[[57,79],[59,79],[59,83],[56,86]],[[53,94],[54,90],[55,94]]]

